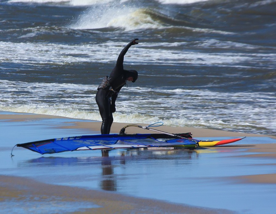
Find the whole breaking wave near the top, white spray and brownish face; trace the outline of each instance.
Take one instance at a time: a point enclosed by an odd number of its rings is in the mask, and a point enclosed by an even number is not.
[[[168,14],[166,14],[168,13]],[[178,18],[171,12],[161,12],[153,8],[138,8],[133,5],[111,4],[107,6],[92,6],[84,11],[76,20],[72,20],[68,28],[73,29],[101,29],[113,28],[124,31],[143,29],[162,30],[163,32],[180,33],[202,32],[223,35],[235,35],[234,32],[213,29],[202,18],[182,13]],[[202,25],[201,27],[199,27]]]

